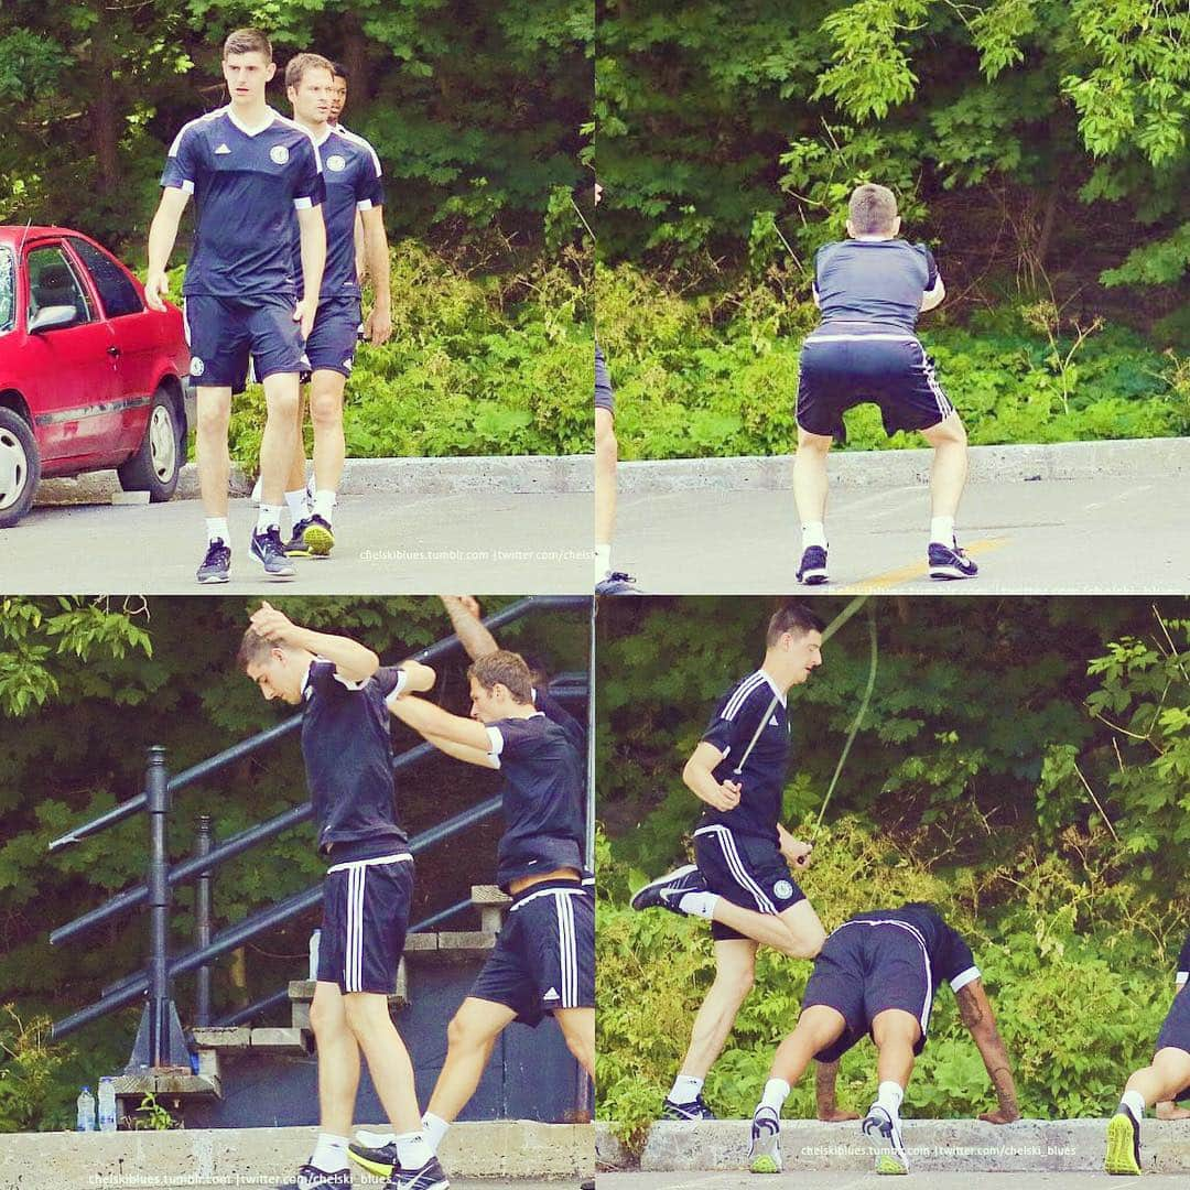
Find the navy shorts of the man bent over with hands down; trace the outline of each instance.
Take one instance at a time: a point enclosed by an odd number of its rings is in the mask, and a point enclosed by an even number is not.
[[[917,1019],[921,1036],[913,1052],[921,1053],[933,1003],[925,941],[915,929],[887,921],[846,921],[833,931],[814,960],[802,996],[803,1012],[826,1004],[846,1021],[839,1040],[814,1056],[819,1061],[837,1061],[871,1032],[872,1021],[888,1008]]]

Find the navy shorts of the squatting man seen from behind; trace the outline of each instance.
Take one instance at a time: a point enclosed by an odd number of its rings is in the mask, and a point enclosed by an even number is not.
[[[875,322],[829,322],[802,343],[797,425],[846,441],[843,415],[879,406],[884,432],[928,430],[954,412],[934,363],[912,331]]]

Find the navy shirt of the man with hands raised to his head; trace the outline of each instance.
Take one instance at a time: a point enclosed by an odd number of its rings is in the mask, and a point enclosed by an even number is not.
[[[384,699],[400,670],[378,669],[367,682],[339,676],[334,662],[311,662],[302,690],[301,751],[318,822],[318,847],[375,843],[387,854],[408,843],[396,820],[390,716]],[[352,847],[355,858],[361,848]]]

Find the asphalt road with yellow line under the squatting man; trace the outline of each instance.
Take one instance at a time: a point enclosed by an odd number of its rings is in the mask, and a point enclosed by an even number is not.
[[[831,494],[823,594],[1185,594],[1190,478],[1004,480],[967,488],[958,537],[979,576],[926,574],[920,484]],[[616,569],[654,594],[788,594],[801,550],[789,490],[621,493]]]

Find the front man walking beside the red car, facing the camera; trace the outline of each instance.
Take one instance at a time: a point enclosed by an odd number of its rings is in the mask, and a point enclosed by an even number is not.
[[[268,407],[261,440],[263,495],[250,552],[270,578],[295,574],[281,540],[281,509],[298,431],[298,382],[309,367],[303,344],[314,325],[326,261],[321,161],[309,133],[265,102],[265,87],[276,73],[269,39],[255,29],[237,30],[224,43],[223,67],[231,102],[192,120],[170,146],[161,205],[149,230],[145,281],[149,306],[164,309],[165,268],[193,194],[198,221],[182,292],[207,514],[200,583],[225,583],[231,570],[227,426],[232,394],[244,390],[250,356]],[[290,244],[294,212],[301,299]]]

